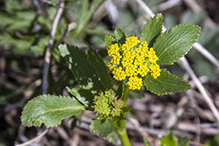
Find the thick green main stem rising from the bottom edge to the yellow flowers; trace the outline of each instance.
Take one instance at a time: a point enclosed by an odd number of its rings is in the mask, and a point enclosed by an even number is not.
[[[129,94],[129,88],[126,85],[124,89],[124,94],[122,97],[122,100],[124,101],[124,106],[127,107],[127,100],[128,100],[128,94]],[[127,132],[126,132],[126,120],[125,120],[126,114],[123,114],[123,120],[118,121],[116,123],[117,126],[115,126],[116,133],[119,135],[119,138],[121,140],[121,143],[123,146],[131,146]]]

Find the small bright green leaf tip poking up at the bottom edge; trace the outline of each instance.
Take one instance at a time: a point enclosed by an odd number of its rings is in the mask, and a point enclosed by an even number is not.
[[[161,140],[160,146],[177,146],[177,137],[172,133],[168,134]]]

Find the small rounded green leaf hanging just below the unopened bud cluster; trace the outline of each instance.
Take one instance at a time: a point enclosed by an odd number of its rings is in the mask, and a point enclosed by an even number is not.
[[[90,125],[90,131],[93,133],[99,131],[100,135],[106,137],[114,131],[108,119],[95,119]]]

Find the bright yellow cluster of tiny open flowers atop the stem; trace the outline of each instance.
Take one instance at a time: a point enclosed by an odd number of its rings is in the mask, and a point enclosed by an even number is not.
[[[148,48],[146,41],[139,43],[137,37],[131,36],[126,38],[125,44],[111,44],[107,50],[111,56],[108,67],[113,69],[113,77],[117,81],[128,78],[127,84],[132,90],[141,89],[142,78],[148,73],[156,79],[161,71],[156,63],[158,57],[153,48]]]

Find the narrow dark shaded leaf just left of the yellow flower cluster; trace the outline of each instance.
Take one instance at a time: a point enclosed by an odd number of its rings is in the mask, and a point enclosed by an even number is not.
[[[103,59],[96,52],[96,50],[92,49],[90,45],[88,46],[88,60],[94,67],[98,76],[98,80],[104,85],[105,89],[110,89],[112,87],[112,80],[108,68],[106,67],[105,63],[103,62]]]

